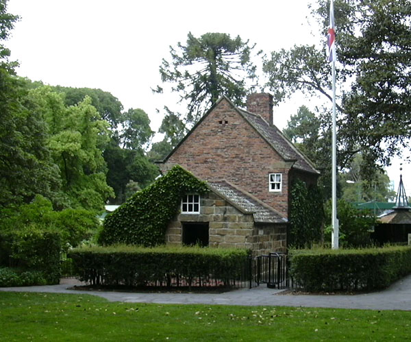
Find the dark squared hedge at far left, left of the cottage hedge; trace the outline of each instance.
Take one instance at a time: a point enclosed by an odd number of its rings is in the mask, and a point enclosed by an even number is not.
[[[30,223],[21,230],[0,231],[1,264],[42,272],[47,284],[60,282],[60,232]]]

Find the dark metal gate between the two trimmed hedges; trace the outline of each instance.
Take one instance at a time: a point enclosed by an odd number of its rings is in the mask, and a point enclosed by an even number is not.
[[[288,276],[287,254],[272,252],[251,259],[251,270],[254,286],[267,284],[270,289],[287,289],[290,287]],[[250,288],[253,287],[250,282]]]

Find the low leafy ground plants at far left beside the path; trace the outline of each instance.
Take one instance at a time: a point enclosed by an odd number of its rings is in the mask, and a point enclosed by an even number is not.
[[[40,271],[22,271],[0,267],[0,287],[46,285],[47,280]]]

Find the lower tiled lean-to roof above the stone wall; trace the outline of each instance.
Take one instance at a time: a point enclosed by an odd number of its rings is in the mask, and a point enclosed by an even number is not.
[[[286,223],[287,219],[279,212],[262,204],[256,198],[241,191],[239,188],[228,182],[209,182],[212,190],[225,197],[229,202],[242,209],[244,212],[253,214],[254,221],[260,223]]]

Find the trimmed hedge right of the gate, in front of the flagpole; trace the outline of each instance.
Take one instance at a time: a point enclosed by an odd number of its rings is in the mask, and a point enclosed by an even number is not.
[[[411,273],[411,247],[295,249],[290,276],[307,291],[384,289]]]

